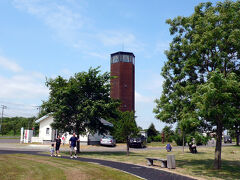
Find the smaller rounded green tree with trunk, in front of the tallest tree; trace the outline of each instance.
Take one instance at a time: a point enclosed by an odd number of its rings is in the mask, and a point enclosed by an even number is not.
[[[233,106],[235,97],[240,99],[240,82],[234,73],[224,77],[223,74],[212,72],[209,80],[198,87],[193,97],[197,106],[198,114],[207,119],[216,127],[216,149],[214,167],[221,167],[222,133],[224,128],[235,122],[238,107]]]

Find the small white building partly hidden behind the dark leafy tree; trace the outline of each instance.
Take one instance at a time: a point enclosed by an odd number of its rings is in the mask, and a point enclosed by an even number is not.
[[[57,130],[54,130],[51,127],[51,123],[53,123],[53,116],[51,114],[47,114],[38,120],[35,121],[36,123],[39,123],[39,137],[32,137],[32,142],[51,142],[55,141],[56,136],[58,134]],[[106,126],[113,126],[113,124],[109,123],[108,121],[101,119],[101,122]],[[68,132],[65,133],[59,133],[59,135],[62,137],[64,136],[65,143],[69,143],[69,139],[71,138],[71,134]],[[87,133],[85,136],[80,136],[80,143],[81,144],[99,144],[100,139],[102,138],[102,135],[99,135],[98,133],[91,135]]]

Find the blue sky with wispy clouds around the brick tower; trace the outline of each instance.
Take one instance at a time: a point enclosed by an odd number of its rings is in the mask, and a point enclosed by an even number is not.
[[[154,99],[172,37],[166,19],[189,16],[204,0],[0,1],[0,105],[5,116],[36,115],[48,97],[45,79],[70,77],[90,67],[110,71],[110,54],[136,56],[137,124],[158,130]],[[216,1],[210,1],[216,2]]]

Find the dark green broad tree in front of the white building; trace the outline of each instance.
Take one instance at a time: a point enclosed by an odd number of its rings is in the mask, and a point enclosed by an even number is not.
[[[90,68],[69,79],[61,76],[49,79],[46,85],[50,96],[42,107],[52,113],[53,128],[75,132],[78,137],[87,132],[102,134],[109,130],[101,118],[110,118],[120,104],[110,98],[109,73],[100,74],[99,68]]]

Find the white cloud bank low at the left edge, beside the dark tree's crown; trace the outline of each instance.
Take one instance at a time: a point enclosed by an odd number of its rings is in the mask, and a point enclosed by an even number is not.
[[[6,105],[4,116],[33,116],[37,114],[32,102],[40,103],[48,96],[45,76],[39,72],[26,72],[17,63],[0,56],[0,66],[10,70],[8,76],[0,71],[0,103]],[[17,104],[20,102],[20,104]],[[31,102],[31,105],[29,105]]]

